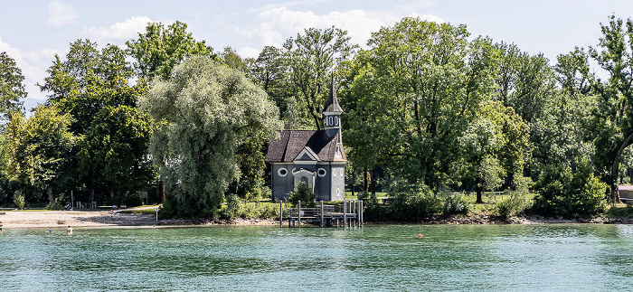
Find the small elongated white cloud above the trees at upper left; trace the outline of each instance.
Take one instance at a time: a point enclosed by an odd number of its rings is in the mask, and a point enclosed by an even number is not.
[[[98,42],[99,45],[106,43],[122,44],[136,38],[137,33],[145,32],[147,23],[151,22],[152,20],[147,16],[134,16],[109,26],[84,26],[81,34],[89,38],[90,41]]]

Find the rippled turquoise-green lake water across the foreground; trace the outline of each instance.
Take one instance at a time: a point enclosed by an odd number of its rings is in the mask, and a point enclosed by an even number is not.
[[[600,224],[5,230],[0,290],[630,290],[632,250]]]

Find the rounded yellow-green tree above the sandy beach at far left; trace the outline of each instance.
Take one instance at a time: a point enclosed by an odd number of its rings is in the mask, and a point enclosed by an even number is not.
[[[31,118],[14,114],[3,134],[9,147],[9,176],[33,193],[46,192],[51,204],[55,203],[53,191],[65,191],[74,176],[71,152],[77,138],[70,126],[71,115],[39,106]]]

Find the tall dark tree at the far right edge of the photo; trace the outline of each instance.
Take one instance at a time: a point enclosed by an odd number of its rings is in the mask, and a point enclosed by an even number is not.
[[[623,26],[621,19],[611,15],[609,24],[600,27],[600,44],[590,47],[590,56],[609,73],[609,79],[594,83],[600,96],[593,115],[596,163],[607,174],[612,202],[619,202],[619,157],[633,142],[633,21],[629,18]]]

